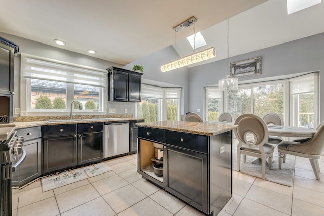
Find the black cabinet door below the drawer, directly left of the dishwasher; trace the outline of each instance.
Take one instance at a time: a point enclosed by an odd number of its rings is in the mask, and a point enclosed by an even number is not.
[[[103,159],[103,132],[79,134],[77,139],[77,164],[85,164]]]

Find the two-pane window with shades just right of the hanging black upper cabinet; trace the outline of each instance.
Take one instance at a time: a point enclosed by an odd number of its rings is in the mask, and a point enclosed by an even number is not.
[[[142,101],[138,116],[146,122],[180,119],[181,88],[161,88],[142,85]]]

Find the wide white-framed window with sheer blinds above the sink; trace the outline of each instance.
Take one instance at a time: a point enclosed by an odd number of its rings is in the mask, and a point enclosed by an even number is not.
[[[22,113],[66,115],[73,100],[83,105],[79,110],[74,103],[76,112],[105,113],[106,76],[105,70],[21,54]]]

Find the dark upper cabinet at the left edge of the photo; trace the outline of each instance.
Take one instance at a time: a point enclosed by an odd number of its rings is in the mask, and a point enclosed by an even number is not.
[[[18,45],[0,37],[0,93],[14,94],[14,54]]]

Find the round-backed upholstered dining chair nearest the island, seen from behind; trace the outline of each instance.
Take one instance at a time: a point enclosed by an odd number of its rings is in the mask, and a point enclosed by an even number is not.
[[[267,144],[268,128],[264,120],[254,114],[243,114],[235,120],[234,133],[238,140],[237,145],[237,171],[240,170],[240,156],[246,162],[246,155],[261,158],[261,178],[265,179],[266,158],[269,162],[269,169],[272,168],[272,157],[274,146]],[[251,137],[253,139],[251,139]]]

